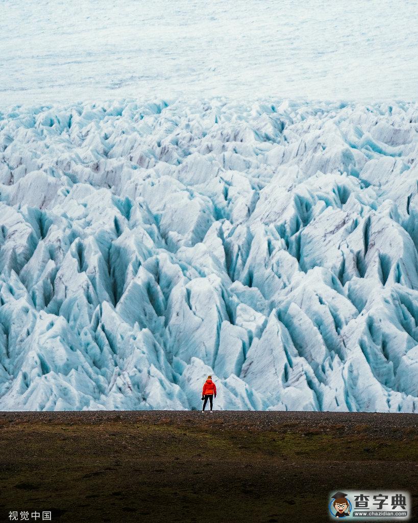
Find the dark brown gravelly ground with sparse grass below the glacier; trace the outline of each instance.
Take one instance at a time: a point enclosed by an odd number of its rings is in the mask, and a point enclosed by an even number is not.
[[[0,413],[0,520],[328,521],[330,491],[407,490],[414,414]],[[33,521],[33,519],[32,519]],[[38,520],[39,521],[39,520]]]

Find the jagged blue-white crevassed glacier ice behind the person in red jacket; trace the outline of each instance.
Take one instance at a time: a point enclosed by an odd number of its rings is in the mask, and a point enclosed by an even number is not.
[[[418,104],[0,111],[0,409],[418,410]]]

